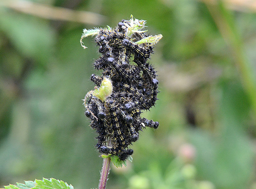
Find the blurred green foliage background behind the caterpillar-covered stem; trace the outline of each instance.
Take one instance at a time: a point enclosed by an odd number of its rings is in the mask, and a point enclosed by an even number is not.
[[[256,188],[255,1],[0,1],[0,187],[54,177],[96,188],[102,158],[81,99],[92,90],[94,39],[83,28],[147,20],[162,34],[152,63],[159,121],[107,188]],[[85,12],[88,11],[88,12]]]

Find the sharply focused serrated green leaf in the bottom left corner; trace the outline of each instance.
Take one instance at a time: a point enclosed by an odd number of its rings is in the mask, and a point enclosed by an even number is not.
[[[17,183],[17,185],[10,184],[5,186],[5,189],[74,189],[73,186],[64,183],[62,180],[56,180],[54,178],[43,180],[25,181],[23,183]]]

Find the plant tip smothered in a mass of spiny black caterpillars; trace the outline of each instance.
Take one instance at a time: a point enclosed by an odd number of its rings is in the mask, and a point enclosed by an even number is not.
[[[84,29],[82,39],[96,35],[95,41],[102,54],[95,62],[101,76],[92,74],[95,90],[84,99],[85,115],[98,133],[96,148],[101,154],[126,160],[133,154],[128,146],[139,137],[143,127],[157,128],[159,123],[140,117],[157,100],[156,71],[147,63],[153,53],[152,45],[162,35],[148,36],[145,20],[122,20],[115,29]],[[132,60],[133,59],[133,60]],[[133,61],[134,63],[130,62]]]

